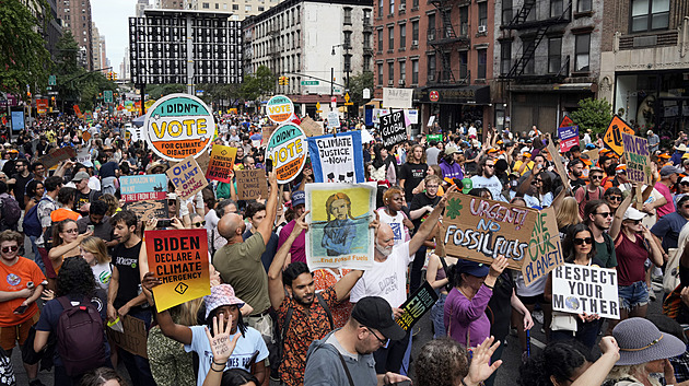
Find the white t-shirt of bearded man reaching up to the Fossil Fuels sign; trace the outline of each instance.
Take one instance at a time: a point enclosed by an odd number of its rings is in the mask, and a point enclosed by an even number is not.
[[[357,303],[364,296],[381,296],[392,307],[399,307],[407,300],[407,266],[411,260],[409,242],[394,246],[385,261],[373,261],[373,268],[352,289],[349,301]]]

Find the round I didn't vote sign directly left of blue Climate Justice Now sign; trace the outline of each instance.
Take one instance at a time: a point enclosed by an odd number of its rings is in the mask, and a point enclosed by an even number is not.
[[[272,160],[279,184],[287,184],[302,173],[307,154],[306,134],[292,124],[281,125],[273,131],[266,147],[266,160]]]

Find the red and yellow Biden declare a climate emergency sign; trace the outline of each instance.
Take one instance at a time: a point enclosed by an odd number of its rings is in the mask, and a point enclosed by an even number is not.
[[[153,288],[155,308],[210,295],[208,234],[200,230],[145,231],[149,270],[163,283]]]

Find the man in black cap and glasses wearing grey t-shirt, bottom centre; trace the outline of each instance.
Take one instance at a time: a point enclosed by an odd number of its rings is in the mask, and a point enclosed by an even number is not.
[[[409,381],[394,372],[376,375],[373,354],[405,335],[385,299],[361,297],[344,327],[311,343],[304,386],[374,386]]]

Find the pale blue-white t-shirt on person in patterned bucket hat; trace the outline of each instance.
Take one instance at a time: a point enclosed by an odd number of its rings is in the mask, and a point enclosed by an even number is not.
[[[196,384],[197,386],[203,386],[203,381],[206,381],[211,362],[213,361],[213,352],[211,351],[210,342],[206,336],[206,326],[191,326],[189,328],[191,329],[191,344],[185,344],[184,349],[187,352],[194,351],[199,355],[199,373],[196,377]],[[238,328],[236,334],[240,334]],[[234,338],[236,334],[230,337],[230,339]],[[244,369],[250,372],[252,369],[248,365],[248,361],[256,351],[258,351],[256,362],[261,362],[268,358],[268,348],[260,332],[252,327],[247,327],[244,337],[237,340],[237,346],[234,348],[225,370]]]

